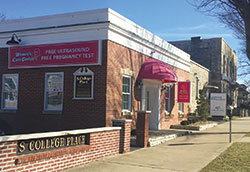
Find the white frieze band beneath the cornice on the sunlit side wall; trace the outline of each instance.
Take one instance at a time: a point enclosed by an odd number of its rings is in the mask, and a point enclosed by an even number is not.
[[[145,35],[152,35],[151,39],[144,38],[143,35],[131,33],[131,31],[124,30],[122,27],[123,25],[118,27],[111,23],[109,26],[108,40],[190,72],[189,54],[182,52],[182,50],[174,47],[172,44],[162,40],[148,31]],[[153,42],[152,39],[156,39],[157,41]],[[154,54],[151,53],[152,50],[155,51]]]

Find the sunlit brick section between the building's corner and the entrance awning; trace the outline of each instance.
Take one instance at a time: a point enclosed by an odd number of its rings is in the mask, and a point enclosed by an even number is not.
[[[106,94],[106,126],[111,126],[112,119],[132,118],[135,128],[136,111],[140,109],[140,89],[135,82],[141,64],[148,58],[146,55],[126,48],[122,45],[108,41],[107,60],[107,94]],[[132,116],[122,116],[122,76],[121,68],[128,68],[134,72],[132,77]]]

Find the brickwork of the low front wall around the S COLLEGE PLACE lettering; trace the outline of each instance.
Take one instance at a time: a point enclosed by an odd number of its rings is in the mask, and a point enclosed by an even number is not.
[[[90,133],[90,145],[16,155],[17,141],[0,143],[0,171],[61,171],[119,153],[120,130]]]

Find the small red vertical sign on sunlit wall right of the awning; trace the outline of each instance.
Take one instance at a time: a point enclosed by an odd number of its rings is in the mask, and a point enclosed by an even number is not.
[[[178,103],[190,102],[190,82],[178,82]]]

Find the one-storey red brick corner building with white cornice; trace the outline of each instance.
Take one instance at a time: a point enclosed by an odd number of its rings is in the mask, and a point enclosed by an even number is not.
[[[8,45],[11,37],[19,45]],[[120,118],[134,127],[138,110],[152,111],[151,129],[165,129],[188,113],[176,83],[163,89],[165,78],[138,73],[152,58],[188,81],[190,56],[111,9],[2,22],[0,47],[5,134],[111,126]]]

